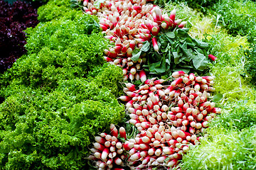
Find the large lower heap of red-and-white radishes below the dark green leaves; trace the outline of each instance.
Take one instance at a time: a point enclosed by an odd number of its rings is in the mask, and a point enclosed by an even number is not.
[[[147,79],[139,89],[125,84],[127,96],[119,97],[127,102],[129,123],[139,130],[129,150],[132,169],[175,166],[189,145],[198,142],[200,137],[196,135],[208,127],[215,113],[220,113],[220,108],[208,101],[209,92],[214,91],[213,77],[182,71],[174,72],[172,77],[174,81],[169,84],[163,79]]]

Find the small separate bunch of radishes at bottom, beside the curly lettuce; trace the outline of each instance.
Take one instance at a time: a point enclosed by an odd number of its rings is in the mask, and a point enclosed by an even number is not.
[[[123,127],[119,128],[119,135],[115,125],[111,124],[110,130],[110,135],[103,132],[95,137],[96,142],[93,144],[92,154],[88,159],[93,160],[99,170],[122,170],[120,167],[124,166],[124,159],[127,158],[124,148],[131,149],[133,146],[124,145],[117,139],[117,137],[123,137],[126,140],[127,135]]]

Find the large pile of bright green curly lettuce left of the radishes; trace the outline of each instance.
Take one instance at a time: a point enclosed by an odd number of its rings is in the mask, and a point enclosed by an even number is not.
[[[89,169],[94,136],[124,118],[122,69],[103,60],[96,17],[64,12],[26,30],[27,55],[0,75],[0,169]]]

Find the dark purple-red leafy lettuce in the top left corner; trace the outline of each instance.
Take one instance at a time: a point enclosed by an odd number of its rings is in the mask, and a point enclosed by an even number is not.
[[[23,30],[38,24],[37,10],[31,4],[0,1],[0,73],[12,67],[24,55],[26,34]]]

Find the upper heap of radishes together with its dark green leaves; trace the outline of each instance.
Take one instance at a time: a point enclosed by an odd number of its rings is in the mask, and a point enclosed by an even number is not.
[[[123,68],[124,81],[139,81],[143,69],[170,76],[179,68],[203,72],[210,64],[208,44],[188,35],[187,21],[177,19],[175,9],[162,13],[146,0],[83,1],[82,5],[85,13],[100,18],[105,38],[114,43],[104,51],[105,60]]]

